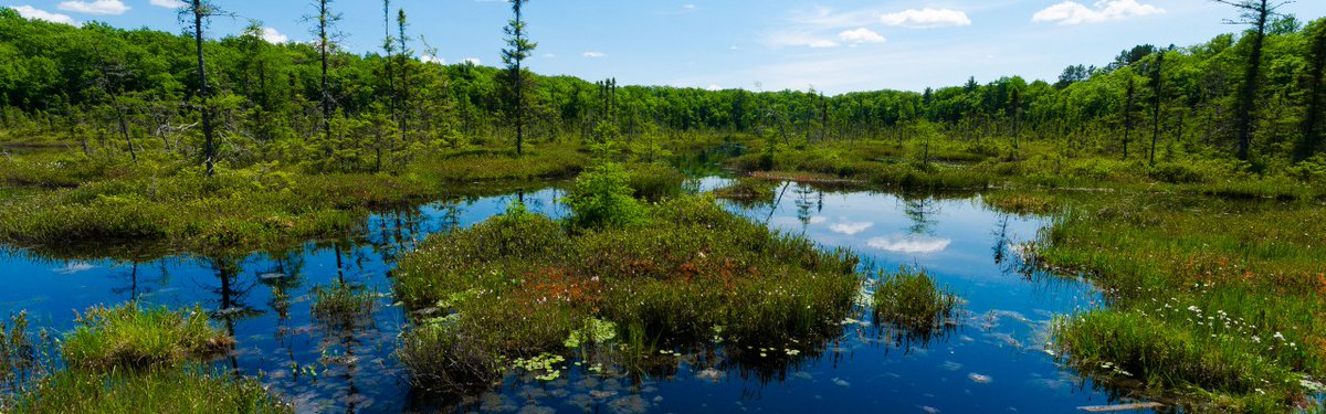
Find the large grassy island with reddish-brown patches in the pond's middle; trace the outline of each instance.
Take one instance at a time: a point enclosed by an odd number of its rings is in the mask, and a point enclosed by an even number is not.
[[[640,208],[648,228],[564,227],[516,207],[428,239],[395,277],[398,299],[420,314],[402,361],[423,386],[455,387],[568,344],[656,356],[713,346],[715,336],[741,349],[810,346],[841,332],[859,284],[855,256],[773,234],[708,196]]]

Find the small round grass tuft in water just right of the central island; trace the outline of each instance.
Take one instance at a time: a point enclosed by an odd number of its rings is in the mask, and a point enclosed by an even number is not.
[[[880,272],[871,301],[875,321],[900,329],[900,338],[928,341],[956,325],[957,296],[936,285],[924,271],[904,267],[894,273]]]

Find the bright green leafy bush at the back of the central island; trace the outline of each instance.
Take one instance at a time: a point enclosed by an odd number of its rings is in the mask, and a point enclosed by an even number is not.
[[[631,175],[617,163],[591,167],[566,194],[568,219],[582,228],[625,227],[644,222],[644,207],[633,196]]]

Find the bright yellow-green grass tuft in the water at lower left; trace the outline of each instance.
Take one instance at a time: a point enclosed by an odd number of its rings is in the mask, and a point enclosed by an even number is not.
[[[170,310],[95,307],[65,336],[62,354],[78,369],[172,365],[225,352],[232,340],[211,326],[202,308]]]

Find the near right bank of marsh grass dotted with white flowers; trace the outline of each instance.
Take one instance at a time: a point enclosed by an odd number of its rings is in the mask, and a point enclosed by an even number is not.
[[[1326,374],[1321,218],[1314,203],[1204,196],[1077,206],[1037,260],[1089,275],[1110,308],[1062,320],[1057,345],[1089,373],[1109,362],[1152,391],[1288,411],[1303,401],[1301,376]]]

